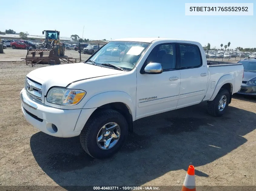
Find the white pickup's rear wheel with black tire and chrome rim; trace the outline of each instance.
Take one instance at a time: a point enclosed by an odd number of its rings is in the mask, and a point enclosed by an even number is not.
[[[212,116],[222,116],[229,104],[230,94],[227,89],[221,88],[214,100],[208,101],[208,113]]]

